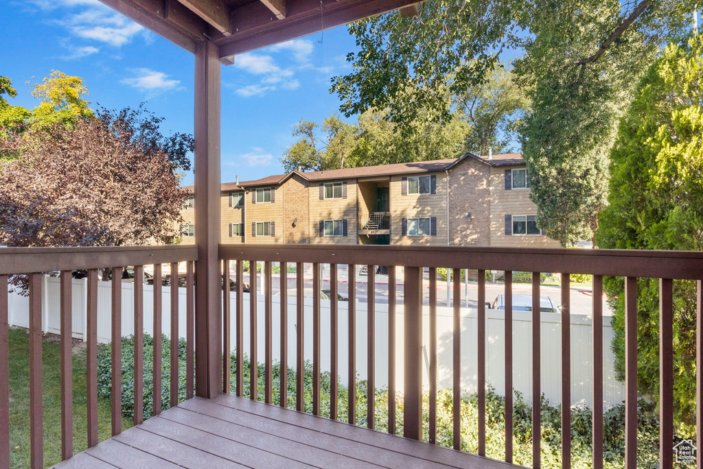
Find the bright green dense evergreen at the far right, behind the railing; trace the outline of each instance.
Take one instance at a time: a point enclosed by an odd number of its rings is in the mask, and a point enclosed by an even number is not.
[[[622,119],[598,245],[703,249],[703,36],[666,47]],[[614,310],[616,366],[624,374],[624,285],[606,283]],[[638,389],[658,399],[659,284],[638,282]],[[674,282],[674,399],[678,423],[695,424],[695,284]]]

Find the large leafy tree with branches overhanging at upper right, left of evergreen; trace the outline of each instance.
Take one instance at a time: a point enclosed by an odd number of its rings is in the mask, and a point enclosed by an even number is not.
[[[408,125],[430,110],[446,120],[445,90],[463,95],[489,79],[503,51],[515,51],[533,103],[521,133],[538,223],[570,244],[592,236],[605,206],[606,157],[633,84],[662,39],[688,29],[694,4],[433,0],[414,18],[389,13],[350,26],[360,50],[332,90],[346,115],[386,109]]]

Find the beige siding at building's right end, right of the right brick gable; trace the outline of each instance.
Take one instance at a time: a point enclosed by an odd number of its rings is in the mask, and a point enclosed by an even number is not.
[[[524,166],[513,166],[520,169]],[[560,244],[543,235],[505,235],[506,215],[536,215],[537,206],[528,189],[505,190],[505,169],[491,168],[491,246],[557,248]]]

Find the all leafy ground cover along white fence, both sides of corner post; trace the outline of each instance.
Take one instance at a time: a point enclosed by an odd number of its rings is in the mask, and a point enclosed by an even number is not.
[[[169,396],[169,340],[162,338],[164,358],[163,395],[164,408],[168,407]],[[152,399],[152,357],[153,341],[149,336],[144,340],[144,410],[145,417],[151,415]],[[179,341],[181,373],[179,374],[179,399],[185,398],[185,341]],[[231,356],[231,390],[236,390],[236,354]],[[312,376],[311,362],[304,363],[303,409],[312,412]],[[243,357],[243,388],[245,397],[250,397],[250,362],[247,355]],[[330,415],[330,374],[321,374],[321,414]],[[288,368],[287,406],[295,409],[295,369]],[[280,402],[280,366],[273,364],[273,402]],[[366,425],[367,399],[366,381],[356,381],[356,415],[357,425]],[[122,413],[131,416],[134,411],[134,338],[122,339]],[[102,345],[98,349],[98,395],[110,398],[110,347]],[[257,399],[264,400],[264,365],[257,365]],[[388,429],[387,388],[375,392],[375,428]],[[396,392],[396,433],[403,432],[403,395]],[[461,449],[476,453],[478,451],[478,397],[475,393],[463,395],[461,399]],[[349,421],[349,389],[338,386],[337,418]],[[541,399],[542,418],[542,452],[543,468],[561,467],[561,406],[552,406],[543,396]],[[437,393],[437,444],[445,447],[453,445],[453,395],[451,389]],[[591,409],[575,407],[572,409],[572,467],[590,468],[592,455]],[[624,405],[612,407],[603,416],[603,452],[604,467],[616,469],[624,467]],[[427,440],[429,428],[429,395],[423,394],[423,439]],[[513,403],[513,459],[515,463],[532,465],[532,409],[519,392],[515,392]],[[677,438],[676,442],[680,439]],[[674,442],[674,444],[676,443]],[[659,467],[659,421],[652,404],[640,402],[638,408],[638,468]],[[503,459],[505,456],[505,399],[489,388],[486,392],[486,456]],[[685,467],[685,466],[679,466]]]

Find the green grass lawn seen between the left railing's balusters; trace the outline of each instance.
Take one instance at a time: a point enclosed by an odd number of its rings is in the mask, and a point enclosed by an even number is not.
[[[30,388],[29,338],[25,329],[10,329],[10,444],[13,468],[30,465]],[[61,391],[60,350],[58,342],[45,341],[44,357],[44,466],[61,459]],[[73,355],[73,450],[86,449],[86,357],[85,352]],[[123,419],[122,428],[131,421]],[[110,437],[110,402],[98,402],[98,435]]]

